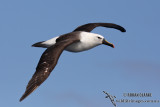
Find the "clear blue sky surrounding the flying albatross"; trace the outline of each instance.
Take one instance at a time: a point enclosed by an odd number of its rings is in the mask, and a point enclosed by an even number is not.
[[[159,0],[0,0],[1,107],[112,107],[102,91],[152,93],[160,100]],[[90,22],[116,23],[126,33],[97,28],[115,48],[63,52],[50,77],[24,101],[19,98],[50,39]],[[131,98],[128,98],[131,99]],[[117,103],[159,107],[160,103]]]

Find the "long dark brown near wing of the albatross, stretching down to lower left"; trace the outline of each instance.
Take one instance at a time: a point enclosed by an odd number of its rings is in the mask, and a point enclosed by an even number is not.
[[[47,48],[42,54],[40,61],[37,65],[36,72],[29,81],[26,91],[23,96],[20,98],[22,101],[29,94],[31,94],[38,86],[40,86],[50,75],[51,71],[57,64],[59,56],[63,52],[64,48],[68,45],[78,42],[78,38],[70,38],[60,42],[57,42],[55,45]]]

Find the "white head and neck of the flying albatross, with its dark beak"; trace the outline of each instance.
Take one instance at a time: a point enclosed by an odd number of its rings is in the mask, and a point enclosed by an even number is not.
[[[91,47],[105,44],[114,48],[114,45],[112,43],[109,43],[107,40],[105,40],[105,38],[102,35],[90,33],[90,32],[81,33],[81,42]]]

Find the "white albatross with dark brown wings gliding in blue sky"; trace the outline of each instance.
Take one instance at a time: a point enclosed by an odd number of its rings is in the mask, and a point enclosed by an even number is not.
[[[96,27],[114,28],[121,32],[126,32],[122,26],[114,23],[88,23],[77,27],[70,33],[33,44],[32,47],[47,49],[41,55],[36,71],[28,82],[26,90],[19,101],[24,100],[49,77],[64,50],[75,53],[89,50],[101,44],[114,48],[114,45],[108,42],[102,35],[91,33]]]

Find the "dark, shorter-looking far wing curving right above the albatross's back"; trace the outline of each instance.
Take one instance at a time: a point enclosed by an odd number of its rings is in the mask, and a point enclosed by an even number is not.
[[[88,23],[88,24],[77,27],[73,32],[75,31],[91,32],[96,27],[114,28],[114,29],[120,30],[121,32],[126,32],[126,30],[122,26],[113,24],[113,23]]]

